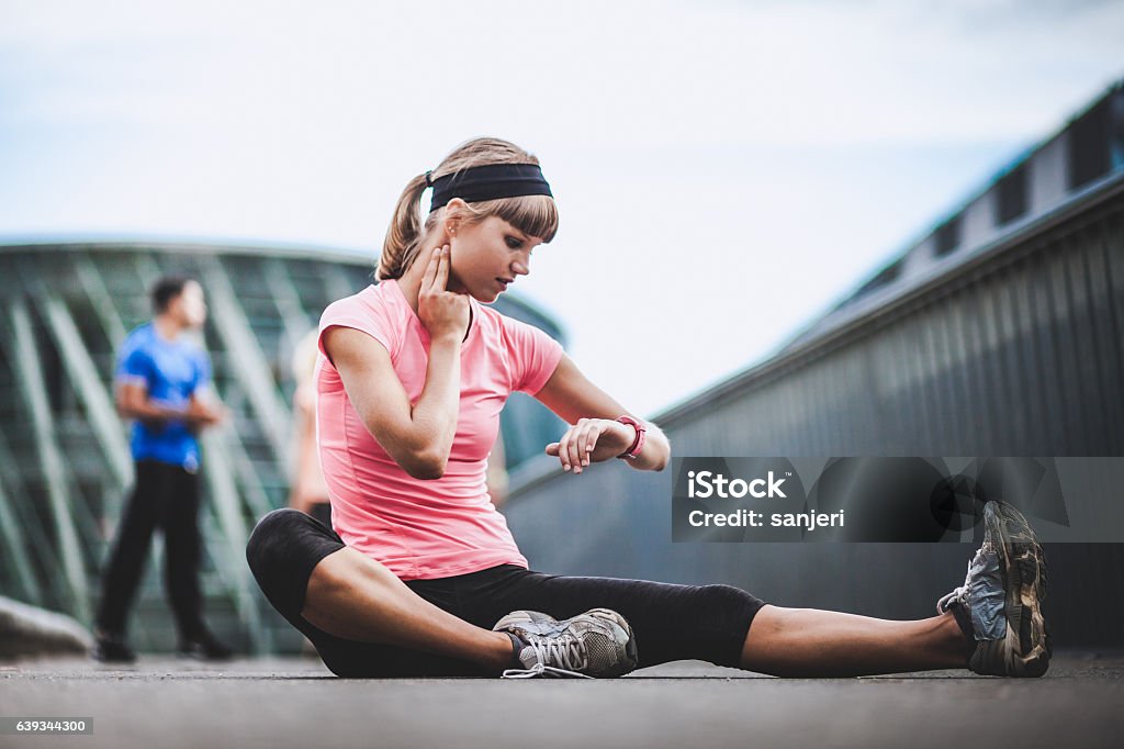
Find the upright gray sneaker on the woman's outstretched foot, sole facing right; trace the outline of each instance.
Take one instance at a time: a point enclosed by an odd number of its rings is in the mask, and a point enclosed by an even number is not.
[[[968,667],[988,676],[1042,676],[1050,667],[1050,632],[1042,616],[1046,562],[1022,513],[1006,502],[984,506],[984,545],[968,562],[964,584],[942,597],[976,641]]]

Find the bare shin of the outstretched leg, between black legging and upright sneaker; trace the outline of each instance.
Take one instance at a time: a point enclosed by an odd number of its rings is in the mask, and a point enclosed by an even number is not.
[[[862,676],[966,668],[969,644],[952,614],[910,622],[764,606],[742,668],[774,676]]]

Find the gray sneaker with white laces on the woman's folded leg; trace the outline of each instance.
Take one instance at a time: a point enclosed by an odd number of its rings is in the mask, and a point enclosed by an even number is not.
[[[573,619],[555,620],[537,611],[516,611],[496,622],[520,643],[523,668],[504,678],[572,676],[611,678],[636,668],[636,639],[625,617],[608,608],[591,608]]]

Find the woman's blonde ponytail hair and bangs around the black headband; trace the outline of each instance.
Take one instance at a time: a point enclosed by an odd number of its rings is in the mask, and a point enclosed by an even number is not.
[[[499,138],[474,138],[457,146],[429,174],[435,180],[445,174],[483,166],[484,164],[538,164],[538,160],[514,143]],[[422,222],[420,201],[426,189],[426,175],[411,179],[398,198],[395,216],[387,229],[387,238],[379,256],[377,278],[382,281],[401,278],[414,263],[423,241],[438,222],[445,217],[447,206],[430,213]],[[477,223],[489,216],[499,216],[524,234],[550,242],[559,228],[559,213],[554,199],[544,195],[528,195],[518,198],[499,198],[466,204],[465,220]]]

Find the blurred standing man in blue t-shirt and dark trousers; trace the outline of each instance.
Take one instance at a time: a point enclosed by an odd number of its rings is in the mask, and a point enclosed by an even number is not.
[[[126,621],[156,527],[164,533],[164,581],[181,656],[223,660],[230,649],[202,620],[199,565],[199,442],[225,409],[209,398],[210,360],[184,334],[207,319],[197,281],[165,277],[152,289],[154,318],[126,337],[114,376],[118,414],[133,419],[136,485],[121,516],[102,580],[93,657],[130,662]]]

